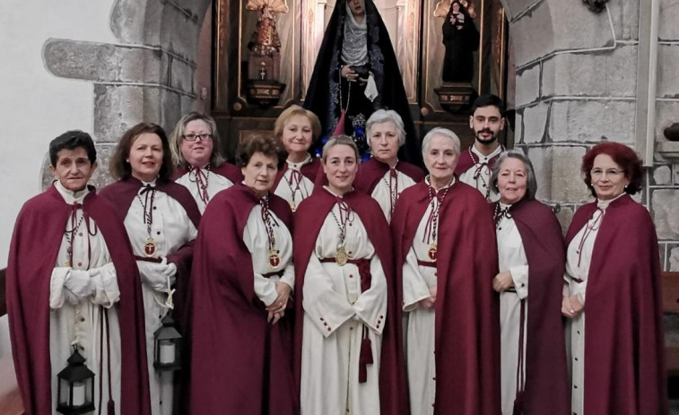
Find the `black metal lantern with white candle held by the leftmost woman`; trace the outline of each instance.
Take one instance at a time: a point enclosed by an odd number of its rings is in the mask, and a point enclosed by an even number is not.
[[[94,373],[74,346],[68,366],[57,375],[57,411],[64,415],[94,411]]]

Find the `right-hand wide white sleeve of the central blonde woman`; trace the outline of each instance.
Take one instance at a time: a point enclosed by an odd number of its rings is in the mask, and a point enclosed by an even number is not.
[[[387,278],[377,255],[370,259],[370,289],[353,303],[356,316],[375,333],[381,334],[387,317]]]

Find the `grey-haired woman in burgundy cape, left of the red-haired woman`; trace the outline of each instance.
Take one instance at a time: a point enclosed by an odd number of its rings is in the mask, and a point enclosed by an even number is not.
[[[533,165],[522,151],[501,153],[491,184],[500,273],[502,413],[570,413],[561,322],[563,236],[549,206],[535,200]]]

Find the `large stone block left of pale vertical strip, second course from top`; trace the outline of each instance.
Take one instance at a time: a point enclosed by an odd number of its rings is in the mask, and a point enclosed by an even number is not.
[[[608,52],[560,54],[543,64],[543,97],[635,97],[636,88],[636,45]]]

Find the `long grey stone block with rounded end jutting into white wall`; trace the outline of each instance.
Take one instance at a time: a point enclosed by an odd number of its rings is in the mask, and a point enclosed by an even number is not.
[[[57,76],[95,82],[158,82],[160,56],[153,50],[49,39],[45,65]]]

